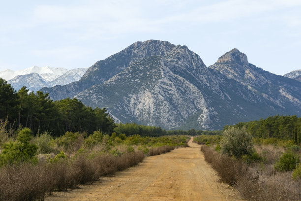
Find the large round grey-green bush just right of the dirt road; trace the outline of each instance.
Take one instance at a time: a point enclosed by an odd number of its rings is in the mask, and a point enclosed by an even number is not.
[[[223,132],[220,147],[222,153],[236,158],[251,155],[253,149],[252,135],[244,127],[241,129],[229,127]]]

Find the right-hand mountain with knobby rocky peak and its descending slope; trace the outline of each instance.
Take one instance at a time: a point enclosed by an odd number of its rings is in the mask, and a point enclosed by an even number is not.
[[[301,107],[301,83],[249,64],[245,54],[233,49],[209,68],[234,79],[288,111]]]

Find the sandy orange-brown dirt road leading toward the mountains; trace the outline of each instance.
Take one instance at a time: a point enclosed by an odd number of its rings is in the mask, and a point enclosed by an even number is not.
[[[151,156],[138,166],[102,177],[80,189],[57,192],[46,201],[239,201],[238,192],[219,182],[200,145]]]

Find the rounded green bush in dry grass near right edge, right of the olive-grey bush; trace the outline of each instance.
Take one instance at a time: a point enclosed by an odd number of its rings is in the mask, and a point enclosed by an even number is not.
[[[295,169],[298,163],[300,163],[299,156],[288,150],[280,156],[279,161],[274,165],[274,169],[277,171],[290,171]]]

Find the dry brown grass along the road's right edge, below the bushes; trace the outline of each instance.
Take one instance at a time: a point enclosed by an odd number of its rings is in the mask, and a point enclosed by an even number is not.
[[[249,201],[300,201],[301,181],[292,180],[292,172],[277,173],[273,164],[282,150],[270,146],[255,147],[266,153],[266,164],[246,166],[241,161],[202,146],[205,160],[218,172],[221,179],[234,185]]]

